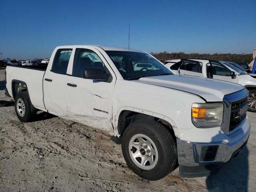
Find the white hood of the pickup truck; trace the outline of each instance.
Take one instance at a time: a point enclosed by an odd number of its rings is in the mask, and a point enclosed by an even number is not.
[[[181,75],[144,77],[135,81],[196,94],[207,102],[222,101],[224,95],[244,89],[240,84]]]

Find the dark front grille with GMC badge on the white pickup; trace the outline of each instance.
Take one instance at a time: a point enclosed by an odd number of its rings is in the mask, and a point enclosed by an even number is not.
[[[246,118],[248,97],[231,103],[229,131],[234,130]]]

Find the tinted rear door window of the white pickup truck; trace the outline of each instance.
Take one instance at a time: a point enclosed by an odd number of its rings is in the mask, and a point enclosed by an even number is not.
[[[59,49],[52,64],[52,72],[66,74],[72,49]]]

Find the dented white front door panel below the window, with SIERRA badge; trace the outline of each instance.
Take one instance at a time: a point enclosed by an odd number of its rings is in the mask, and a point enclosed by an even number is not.
[[[67,87],[68,118],[113,133],[112,90],[114,84],[74,76],[68,76],[68,82],[77,85]]]

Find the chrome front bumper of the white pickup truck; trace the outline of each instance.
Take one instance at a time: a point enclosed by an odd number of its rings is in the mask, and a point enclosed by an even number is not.
[[[249,125],[250,126],[250,125]],[[240,129],[240,131],[242,131]],[[188,142],[177,138],[178,163],[180,176],[207,176],[212,170],[209,166],[216,166],[229,162],[246,146],[250,135],[247,132],[235,142]],[[214,168],[215,169],[215,168]],[[209,170],[209,172],[207,171]]]

